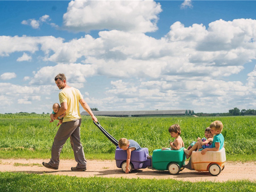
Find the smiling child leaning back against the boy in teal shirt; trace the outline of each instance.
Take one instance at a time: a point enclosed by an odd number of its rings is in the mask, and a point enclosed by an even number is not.
[[[195,144],[192,147],[189,146],[187,149],[184,149],[187,159],[191,156],[192,151],[194,151],[196,149],[202,150],[204,148],[209,148],[212,146],[213,135],[211,133],[210,127],[207,127],[204,130],[204,136],[205,136],[205,138],[202,138],[202,139],[200,137],[198,137],[197,142],[193,141],[193,142],[195,142]]]

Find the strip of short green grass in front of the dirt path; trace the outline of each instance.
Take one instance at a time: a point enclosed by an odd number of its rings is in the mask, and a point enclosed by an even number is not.
[[[211,192],[254,192],[255,182],[241,181],[201,181],[188,182],[173,179],[124,179],[89,177],[79,178],[60,175],[38,175],[26,173],[0,172],[0,191],[211,191]]]

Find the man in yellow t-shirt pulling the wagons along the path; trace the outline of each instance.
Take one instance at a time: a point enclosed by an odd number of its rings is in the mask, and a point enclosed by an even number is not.
[[[98,120],[93,115],[89,105],[84,101],[80,91],[67,85],[66,76],[64,74],[57,75],[54,80],[58,88],[62,89],[62,91],[59,93],[60,109],[54,115],[51,114],[51,117],[52,119],[57,119],[58,116],[65,112],[66,116],[64,116],[63,123],[60,125],[60,128],[54,137],[52,144],[52,158],[49,163],[43,162],[43,165],[49,169],[59,168],[61,149],[70,137],[70,143],[77,162],[76,167],[71,167],[71,170],[85,171],[86,159],[84,157],[83,146],[80,142],[81,115],[79,111],[79,103],[84,110],[91,115],[93,121],[98,122]]]

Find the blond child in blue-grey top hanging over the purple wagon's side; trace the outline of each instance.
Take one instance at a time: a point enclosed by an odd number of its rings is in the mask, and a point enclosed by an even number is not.
[[[130,164],[130,161],[131,161],[131,152],[134,151],[134,150],[138,151],[138,150],[141,149],[141,147],[140,147],[140,145],[136,141],[130,140],[130,139],[127,140],[126,138],[121,138],[118,141],[118,146],[119,146],[119,148],[127,151],[125,173],[129,173],[131,171],[129,169],[129,164]]]

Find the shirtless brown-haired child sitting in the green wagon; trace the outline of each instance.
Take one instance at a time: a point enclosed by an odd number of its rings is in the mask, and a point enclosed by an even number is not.
[[[174,124],[171,127],[169,127],[169,133],[171,134],[172,138],[175,138],[173,142],[170,142],[170,148],[162,148],[162,150],[179,150],[180,148],[184,147],[184,142],[182,138],[180,137],[180,125]]]

